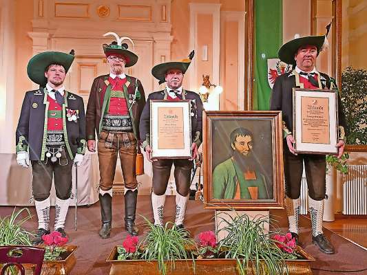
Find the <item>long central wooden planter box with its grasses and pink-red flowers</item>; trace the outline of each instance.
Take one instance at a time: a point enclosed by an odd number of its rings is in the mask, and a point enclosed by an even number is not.
[[[195,241],[171,223],[160,227],[147,221],[145,238],[128,236],[109,254],[109,274],[312,274],[308,262],[314,259],[289,235],[264,233],[266,218],[237,214],[222,222],[224,239],[207,231]]]

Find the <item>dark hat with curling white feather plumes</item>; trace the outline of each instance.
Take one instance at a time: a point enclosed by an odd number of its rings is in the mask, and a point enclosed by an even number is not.
[[[129,40],[133,47],[134,42],[132,39],[129,39],[129,37],[118,37],[118,35],[115,32],[107,32],[103,34],[103,36],[107,35],[113,35],[116,37],[116,41],[113,41],[111,44],[103,44],[103,52],[105,53],[105,56],[108,57],[110,55],[117,55],[117,56],[123,56],[125,58],[125,67],[132,67],[135,65],[136,62],[138,62],[138,56],[134,54],[134,52],[131,52],[127,50],[128,45],[126,43],[123,43],[124,40]]]

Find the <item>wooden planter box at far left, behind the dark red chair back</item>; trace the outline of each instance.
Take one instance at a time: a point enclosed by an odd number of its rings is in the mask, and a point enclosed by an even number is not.
[[[61,254],[62,260],[44,261],[42,265],[42,275],[67,275],[72,271],[76,258],[74,251],[78,248],[76,245],[64,245],[66,252]],[[24,265],[25,274],[33,274],[34,267],[32,265]]]

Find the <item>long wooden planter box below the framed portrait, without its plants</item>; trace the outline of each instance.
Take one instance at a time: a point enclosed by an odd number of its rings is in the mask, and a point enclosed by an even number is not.
[[[313,274],[310,267],[310,261],[315,261],[313,256],[302,250],[302,248],[297,247],[296,251],[304,259],[300,260],[287,260],[286,266],[288,267],[288,274],[297,275],[311,275]],[[107,258],[107,263],[111,264],[109,270],[109,275],[135,275],[135,274],[145,274],[145,275],[156,275],[160,274],[158,270],[157,261],[144,261],[144,260],[116,260],[118,256],[117,247],[114,247],[112,252]],[[193,268],[195,267],[195,271]],[[191,259],[187,260],[176,260],[174,262],[174,267],[171,263],[167,263],[167,275],[190,275],[190,274],[220,274],[220,275],[233,275],[240,274],[239,267],[237,266],[237,261],[235,259],[196,259],[195,263]],[[247,274],[253,274],[249,271]],[[284,268],[284,273],[286,270]]]

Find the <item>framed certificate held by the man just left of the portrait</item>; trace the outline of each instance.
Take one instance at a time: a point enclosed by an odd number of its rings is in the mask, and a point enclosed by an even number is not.
[[[152,158],[191,157],[190,100],[150,100]]]

